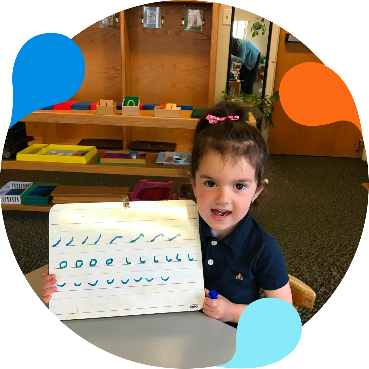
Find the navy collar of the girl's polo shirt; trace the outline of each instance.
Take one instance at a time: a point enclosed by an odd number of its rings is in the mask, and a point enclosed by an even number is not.
[[[215,239],[216,237],[214,237],[211,233],[209,225],[206,223],[206,221],[203,220],[203,218],[201,218],[200,214],[199,220],[199,231],[201,240],[207,241],[208,238]],[[248,212],[242,219],[241,223],[234,229],[234,231],[232,231],[220,241],[229,246],[233,251],[237,251],[245,243],[245,239],[248,237],[251,228],[252,219],[250,213]]]

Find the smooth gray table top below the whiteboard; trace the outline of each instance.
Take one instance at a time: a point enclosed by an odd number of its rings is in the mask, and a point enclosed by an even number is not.
[[[148,368],[202,369],[230,361],[236,329],[199,311],[68,320],[97,349]]]

